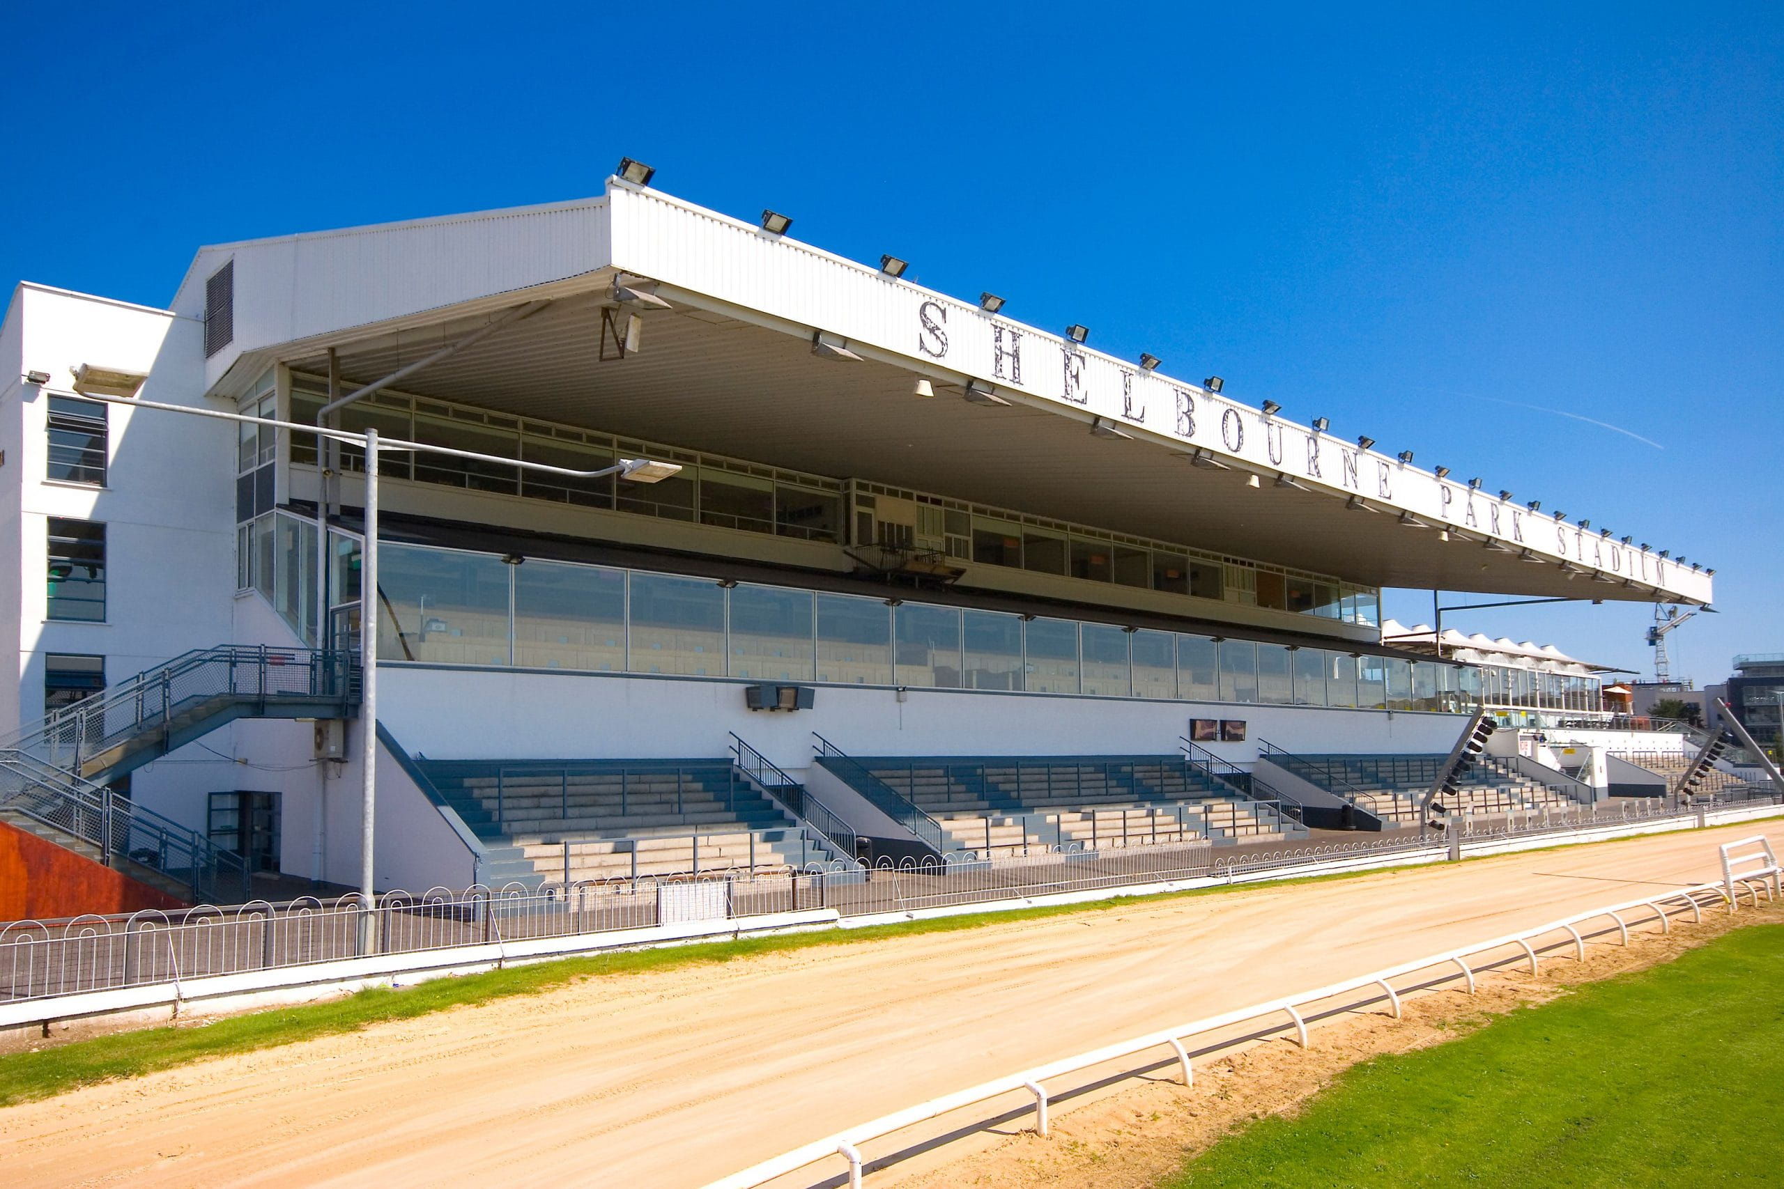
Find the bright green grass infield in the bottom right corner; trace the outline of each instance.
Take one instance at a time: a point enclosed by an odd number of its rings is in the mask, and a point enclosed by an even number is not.
[[[1161,1189],[1779,1184],[1784,925],[1352,1066]]]

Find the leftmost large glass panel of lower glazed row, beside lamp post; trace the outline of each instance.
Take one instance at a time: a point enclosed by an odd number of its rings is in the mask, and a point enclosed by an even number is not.
[[[507,665],[510,570],[491,554],[380,542],[378,656]]]

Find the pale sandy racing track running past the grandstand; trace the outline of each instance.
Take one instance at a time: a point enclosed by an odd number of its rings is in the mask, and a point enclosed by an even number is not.
[[[1718,879],[1718,841],[1752,832],[1689,831],[591,980],[0,1111],[0,1180],[701,1185],[1031,1064]],[[812,1166],[797,1184],[838,1169]]]

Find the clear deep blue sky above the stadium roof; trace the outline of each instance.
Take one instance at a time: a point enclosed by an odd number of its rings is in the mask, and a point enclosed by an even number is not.
[[[632,155],[1714,565],[1698,683],[1784,651],[1784,7],[1235,7],[7,5],[0,280],[159,305]],[[1650,613],[1452,622],[1641,668]]]

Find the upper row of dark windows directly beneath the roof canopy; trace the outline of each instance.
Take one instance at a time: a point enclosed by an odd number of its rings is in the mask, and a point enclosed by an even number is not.
[[[323,401],[325,394],[314,380],[293,378],[293,421],[314,422]],[[999,513],[867,483],[846,485],[822,476],[628,442],[444,401],[378,394],[346,406],[341,428],[360,433],[376,428],[392,439],[571,471],[598,471],[624,456],[653,456],[683,465],[680,474],[658,483],[628,483],[614,476],[576,480],[450,455],[385,455],[380,460],[382,472],[401,480],[801,540],[847,544],[853,538],[858,545],[933,549],[978,565],[1060,574],[1350,624],[1374,626],[1381,619],[1374,588],[1331,578],[1265,569],[1160,542],[1122,542],[1015,512]],[[264,456],[264,442],[250,440],[250,433],[244,430],[243,474]],[[344,446],[343,469],[359,471],[360,453]],[[291,462],[314,465],[316,440],[294,435]],[[243,501],[250,501],[244,506],[264,510],[252,497],[253,492],[244,488]],[[846,521],[849,508],[855,517],[853,533]]]

